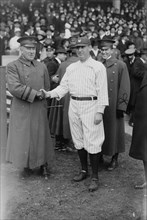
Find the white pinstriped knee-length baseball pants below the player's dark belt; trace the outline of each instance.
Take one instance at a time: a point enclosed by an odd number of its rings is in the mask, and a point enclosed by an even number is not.
[[[69,123],[75,148],[84,148],[90,154],[101,152],[104,142],[103,122],[94,124],[97,100],[70,100]]]

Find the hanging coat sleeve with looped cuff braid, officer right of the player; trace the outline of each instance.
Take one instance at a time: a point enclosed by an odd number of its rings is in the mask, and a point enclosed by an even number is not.
[[[126,111],[130,98],[130,78],[124,62],[119,64],[117,109]]]

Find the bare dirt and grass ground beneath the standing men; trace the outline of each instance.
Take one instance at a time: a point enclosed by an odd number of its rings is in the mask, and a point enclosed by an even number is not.
[[[119,167],[99,172],[99,189],[93,193],[88,192],[90,177],[72,182],[80,169],[77,153],[56,152],[56,168],[48,180],[37,173],[22,180],[11,164],[2,163],[1,219],[139,219],[145,215],[147,197],[143,190],[134,189],[135,183],[144,180],[144,172],[142,162],[128,156],[130,142],[131,136],[126,134],[126,152],[119,156]]]

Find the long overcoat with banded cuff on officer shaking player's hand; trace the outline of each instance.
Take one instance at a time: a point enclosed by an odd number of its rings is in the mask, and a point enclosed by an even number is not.
[[[13,102],[7,141],[6,160],[18,168],[52,166],[53,144],[50,137],[46,100],[36,100],[36,92],[49,90],[47,68],[34,60],[20,57],[7,66],[7,83]]]

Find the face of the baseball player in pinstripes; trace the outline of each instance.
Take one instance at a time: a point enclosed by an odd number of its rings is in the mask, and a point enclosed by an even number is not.
[[[76,48],[77,51],[77,56],[79,57],[79,59],[81,61],[86,61],[88,59],[88,57],[90,56],[89,52],[90,52],[90,46],[78,46]]]

